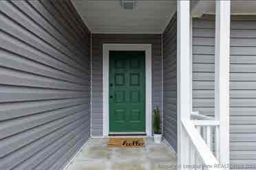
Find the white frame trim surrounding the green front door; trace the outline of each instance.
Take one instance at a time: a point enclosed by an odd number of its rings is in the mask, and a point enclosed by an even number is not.
[[[145,51],[146,134],[152,136],[151,44],[103,44],[103,136],[109,135],[109,51]]]

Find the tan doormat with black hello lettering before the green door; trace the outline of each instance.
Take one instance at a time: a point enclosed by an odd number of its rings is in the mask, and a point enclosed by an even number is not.
[[[110,138],[107,147],[145,147],[143,138]]]

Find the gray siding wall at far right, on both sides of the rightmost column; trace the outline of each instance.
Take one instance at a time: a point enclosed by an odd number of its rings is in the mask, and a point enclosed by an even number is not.
[[[256,164],[256,17],[231,17],[231,164]],[[193,108],[214,114],[213,17],[193,22]]]

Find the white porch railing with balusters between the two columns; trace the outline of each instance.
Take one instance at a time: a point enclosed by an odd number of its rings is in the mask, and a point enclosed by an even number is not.
[[[219,121],[193,112],[191,120],[182,121],[188,145],[189,169],[220,169]]]

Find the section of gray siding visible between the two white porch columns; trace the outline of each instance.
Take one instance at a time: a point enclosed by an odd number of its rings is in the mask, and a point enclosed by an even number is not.
[[[215,21],[193,19],[193,110],[214,115]]]

